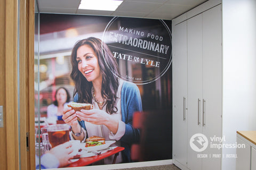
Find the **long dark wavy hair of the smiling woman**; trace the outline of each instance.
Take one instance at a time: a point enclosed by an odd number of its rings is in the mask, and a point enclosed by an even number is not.
[[[78,94],[78,103],[92,103],[92,82],[87,81],[78,70],[78,63],[76,61],[77,49],[83,45],[89,45],[98,56],[100,72],[102,73],[101,96],[106,99],[107,112],[109,114],[116,113],[117,107],[115,103],[119,83],[115,74],[119,74],[118,65],[109,47],[98,38],[89,37],[82,39],[75,44],[72,50],[72,72],[70,77],[75,82],[74,96]]]

